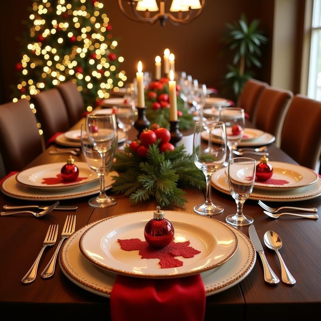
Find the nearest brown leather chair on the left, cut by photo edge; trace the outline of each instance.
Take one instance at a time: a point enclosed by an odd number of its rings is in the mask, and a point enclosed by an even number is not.
[[[42,152],[37,120],[28,100],[0,106],[0,140],[6,173],[23,169]]]

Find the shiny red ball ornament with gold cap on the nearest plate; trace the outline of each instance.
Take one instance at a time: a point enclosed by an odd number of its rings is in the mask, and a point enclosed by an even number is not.
[[[156,209],[154,218],[145,226],[144,237],[150,246],[163,248],[174,239],[174,227],[169,220],[165,219],[164,211],[160,211],[159,206]]]

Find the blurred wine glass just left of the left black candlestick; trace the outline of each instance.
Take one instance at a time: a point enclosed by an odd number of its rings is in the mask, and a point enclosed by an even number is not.
[[[125,132],[126,138],[123,146],[120,146],[118,149],[124,150],[125,146],[128,146],[128,131],[134,124],[135,121],[135,107],[134,104],[120,104],[113,106],[116,111],[116,119],[118,127]]]

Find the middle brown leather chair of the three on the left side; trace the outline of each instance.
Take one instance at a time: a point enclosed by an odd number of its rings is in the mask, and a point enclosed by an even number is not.
[[[64,100],[58,89],[53,88],[32,96],[35,103],[37,117],[41,123],[46,142],[57,132],[69,129],[69,119]]]

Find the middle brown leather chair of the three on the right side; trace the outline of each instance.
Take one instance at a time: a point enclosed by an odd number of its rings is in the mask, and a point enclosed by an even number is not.
[[[274,135],[277,146],[280,146],[281,130],[292,97],[289,90],[268,87],[257,101],[255,126]]]

